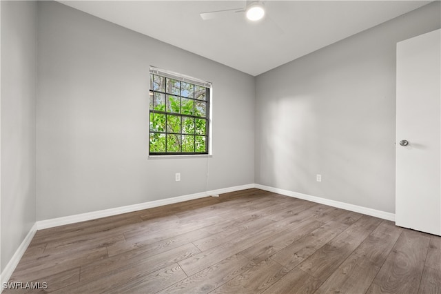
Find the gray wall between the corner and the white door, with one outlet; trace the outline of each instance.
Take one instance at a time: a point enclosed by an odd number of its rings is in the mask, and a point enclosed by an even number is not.
[[[396,43],[440,19],[436,1],[259,75],[256,184],[394,213]]]

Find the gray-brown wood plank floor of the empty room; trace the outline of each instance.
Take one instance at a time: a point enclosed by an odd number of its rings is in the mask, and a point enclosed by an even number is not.
[[[9,282],[40,289],[3,293],[441,293],[441,237],[249,189],[38,231]]]

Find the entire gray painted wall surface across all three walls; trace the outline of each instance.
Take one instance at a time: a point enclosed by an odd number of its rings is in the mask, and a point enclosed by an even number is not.
[[[1,269],[36,219],[203,192],[207,168],[208,190],[393,213],[396,42],[436,28],[439,2],[254,79],[60,3],[1,1]],[[150,65],[213,82],[212,158],[147,158]]]

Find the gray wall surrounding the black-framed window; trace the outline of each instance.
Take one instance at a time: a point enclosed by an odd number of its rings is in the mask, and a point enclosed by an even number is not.
[[[39,220],[200,193],[207,166],[208,190],[254,183],[254,77],[57,2],[38,7]],[[212,158],[147,157],[150,65],[212,81]]]

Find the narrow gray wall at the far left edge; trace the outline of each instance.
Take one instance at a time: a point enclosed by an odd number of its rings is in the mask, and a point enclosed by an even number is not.
[[[37,2],[0,5],[3,271],[36,221]]]

